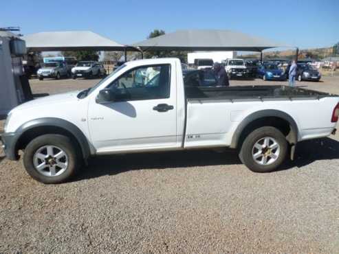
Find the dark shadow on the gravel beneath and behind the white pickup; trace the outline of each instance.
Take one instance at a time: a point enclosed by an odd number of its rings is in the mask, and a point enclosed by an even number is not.
[[[302,168],[314,161],[339,159],[339,142],[333,139],[316,139],[298,144],[296,159],[288,161],[281,170]],[[166,168],[192,168],[210,165],[241,164],[236,150],[216,152],[214,150],[190,150],[160,153],[125,154],[95,157],[89,161],[74,181],[115,175],[130,170],[152,170]]]

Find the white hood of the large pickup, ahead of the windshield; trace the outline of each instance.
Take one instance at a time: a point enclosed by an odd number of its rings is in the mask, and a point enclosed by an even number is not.
[[[31,100],[30,102],[25,102],[15,108],[12,109],[11,113],[15,113],[15,111],[21,111],[27,108],[33,107],[41,107],[41,106],[55,106],[55,104],[61,104],[64,102],[72,102],[79,100],[76,95],[78,95],[80,91],[72,91],[69,93],[61,93],[57,95],[50,95],[46,97],[42,97],[39,99]]]

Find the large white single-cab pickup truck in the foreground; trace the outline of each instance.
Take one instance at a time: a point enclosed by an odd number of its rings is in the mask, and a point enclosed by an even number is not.
[[[238,148],[254,172],[279,168],[298,141],[336,131],[339,97],[287,86],[189,86],[177,58],[127,62],[85,91],[14,108],[1,135],[43,183],[67,181],[89,157]]]

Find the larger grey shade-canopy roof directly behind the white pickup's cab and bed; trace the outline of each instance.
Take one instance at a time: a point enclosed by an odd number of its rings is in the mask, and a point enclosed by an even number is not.
[[[194,51],[263,51],[273,47],[290,47],[265,38],[230,30],[178,30],[133,44],[142,50]]]

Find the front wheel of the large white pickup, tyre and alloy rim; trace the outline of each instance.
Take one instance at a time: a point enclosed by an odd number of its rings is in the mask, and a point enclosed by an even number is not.
[[[51,147],[52,149],[50,149]],[[50,157],[49,154],[61,155],[58,158]],[[72,144],[71,139],[63,135],[48,134],[36,137],[28,143],[23,154],[25,170],[32,178],[41,183],[69,181],[80,168],[80,164],[80,154],[76,147]]]

